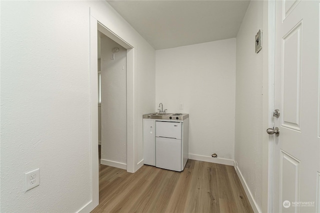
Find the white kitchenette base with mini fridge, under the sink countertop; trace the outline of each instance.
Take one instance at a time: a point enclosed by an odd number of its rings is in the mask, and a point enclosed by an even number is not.
[[[183,171],[189,155],[188,118],[143,119],[144,164]]]

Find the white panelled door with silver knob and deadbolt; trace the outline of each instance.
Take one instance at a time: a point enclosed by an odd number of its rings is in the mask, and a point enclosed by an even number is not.
[[[274,213],[319,211],[319,6],[276,1]]]

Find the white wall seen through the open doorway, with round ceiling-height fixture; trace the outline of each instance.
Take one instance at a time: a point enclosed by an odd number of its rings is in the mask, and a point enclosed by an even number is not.
[[[114,47],[119,51],[113,53]],[[126,49],[104,36],[101,37],[101,164],[108,162],[126,165]]]

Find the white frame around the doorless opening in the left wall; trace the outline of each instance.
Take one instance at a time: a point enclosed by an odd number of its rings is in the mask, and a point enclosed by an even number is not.
[[[101,31],[126,49],[126,171],[135,172],[134,164],[134,55],[136,48],[108,27],[103,16],[89,8],[89,89],[90,89],[90,166],[91,201],[83,212],[90,212],[99,204],[98,162],[98,90],[97,90],[97,31]],[[81,211],[81,212],[82,212]]]

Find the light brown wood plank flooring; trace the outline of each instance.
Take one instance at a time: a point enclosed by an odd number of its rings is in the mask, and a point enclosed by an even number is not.
[[[253,213],[234,168],[188,160],[183,172],[143,165],[131,174],[100,165],[91,213]]]

